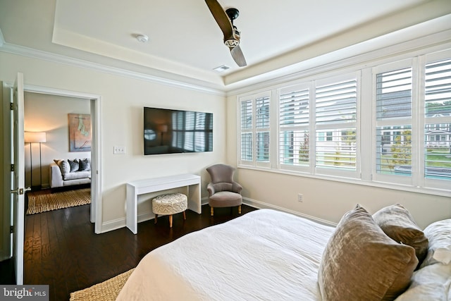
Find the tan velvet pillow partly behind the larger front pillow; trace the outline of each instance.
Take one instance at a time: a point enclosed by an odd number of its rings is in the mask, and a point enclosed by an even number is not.
[[[394,204],[377,211],[373,219],[390,238],[414,247],[418,266],[428,254],[428,238],[415,223],[414,218],[402,204]]]

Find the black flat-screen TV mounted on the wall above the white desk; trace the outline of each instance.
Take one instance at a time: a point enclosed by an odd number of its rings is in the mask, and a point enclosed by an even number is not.
[[[213,113],[144,107],[144,155],[213,151]]]

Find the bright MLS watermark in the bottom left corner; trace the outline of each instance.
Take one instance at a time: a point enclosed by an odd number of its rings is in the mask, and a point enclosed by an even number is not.
[[[0,300],[49,301],[49,285],[0,285]]]

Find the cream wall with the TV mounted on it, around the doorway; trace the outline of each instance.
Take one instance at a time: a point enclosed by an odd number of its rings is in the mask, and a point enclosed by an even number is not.
[[[226,106],[221,95],[187,90],[146,80],[102,73],[62,63],[0,52],[0,79],[12,83],[24,74],[25,85],[85,92],[101,96],[102,223],[125,225],[125,183],[132,180],[194,173],[202,176],[206,197],[205,168],[226,160]],[[214,152],[143,156],[142,109],[144,106],[190,109],[214,113]],[[113,154],[113,146],[125,154]],[[148,211],[149,202],[139,207]],[[140,214],[140,212],[139,212]]]

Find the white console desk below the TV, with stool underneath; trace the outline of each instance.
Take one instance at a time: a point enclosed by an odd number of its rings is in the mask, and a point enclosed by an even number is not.
[[[188,209],[201,214],[200,176],[186,174],[127,183],[127,228],[134,234],[138,233],[138,195],[185,186],[188,188]]]

